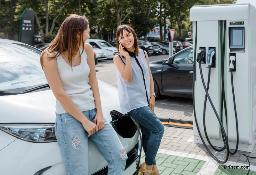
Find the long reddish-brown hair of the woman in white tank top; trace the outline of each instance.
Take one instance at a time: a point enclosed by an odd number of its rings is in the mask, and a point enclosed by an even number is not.
[[[89,21],[85,17],[85,15],[80,16],[76,14],[70,14],[67,16],[67,18],[64,20],[64,22],[61,24],[59,32],[57,33],[54,40],[52,40],[50,46],[45,49],[40,56],[40,63],[43,68],[43,55],[45,53],[52,53],[54,51],[57,51],[57,54],[55,56],[50,57],[52,60],[53,58],[56,58],[60,56],[62,52],[68,52],[68,62],[71,65],[72,68],[72,59],[76,56],[79,47],[82,43],[82,47],[84,48],[84,39],[83,39],[83,33],[84,30],[88,27]],[[77,34],[79,34],[80,37],[77,37]],[[84,52],[84,49],[82,53]],[[82,55],[80,54],[80,56]]]

